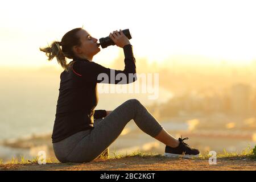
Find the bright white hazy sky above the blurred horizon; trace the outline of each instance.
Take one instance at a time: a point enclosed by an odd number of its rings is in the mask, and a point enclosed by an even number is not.
[[[129,28],[137,59],[161,63],[177,55],[200,55],[208,61],[250,63],[256,60],[255,7],[255,1],[245,0],[2,1],[0,65],[57,65],[39,47],[82,26],[98,39]],[[110,46],[93,61],[108,63],[120,52]]]

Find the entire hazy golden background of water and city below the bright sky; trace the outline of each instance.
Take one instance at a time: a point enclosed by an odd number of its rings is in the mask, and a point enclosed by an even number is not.
[[[176,60],[149,64],[146,59],[137,59],[138,73],[159,73],[159,99],[148,100],[143,94],[100,94],[96,109],[113,110],[137,98],[164,129],[176,138],[189,137],[188,144],[202,154],[210,150],[241,152],[254,147],[256,61],[239,66],[225,62],[201,65],[195,59],[193,64]],[[123,57],[105,66],[123,69]],[[20,155],[33,158],[40,150],[54,157],[51,133],[61,72],[54,67],[1,69],[0,159]],[[135,150],[163,154],[164,144],[129,122],[110,145],[110,154]]]

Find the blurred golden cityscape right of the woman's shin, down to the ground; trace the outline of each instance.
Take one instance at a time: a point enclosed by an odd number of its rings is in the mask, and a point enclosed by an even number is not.
[[[191,138],[189,144],[201,152],[242,152],[256,144],[256,92],[250,84],[234,84],[222,93],[184,92],[147,108],[169,133]]]

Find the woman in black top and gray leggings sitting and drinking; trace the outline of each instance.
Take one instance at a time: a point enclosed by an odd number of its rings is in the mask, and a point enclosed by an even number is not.
[[[125,69],[118,71],[95,63],[93,56],[100,52],[97,39],[86,30],[75,28],[67,32],[61,42],[40,48],[48,60],[56,57],[65,70],[60,75],[59,98],[52,133],[53,150],[60,162],[89,162],[96,159],[121,134],[126,124],[134,120],[144,133],[166,144],[165,156],[199,156],[199,151],[190,148],[184,139],[172,137],[158,121],[136,99],[127,100],[113,111],[94,110],[98,103],[97,84],[100,73],[110,78],[123,73],[129,78],[125,84],[136,80],[133,46],[122,30],[113,31],[109,37],[116,46],[123,49]],[[67,64],[66,59],[73,59]],[[109,84],[119,80],[108,79]],[[124,84],[124,83],[122,83]]]

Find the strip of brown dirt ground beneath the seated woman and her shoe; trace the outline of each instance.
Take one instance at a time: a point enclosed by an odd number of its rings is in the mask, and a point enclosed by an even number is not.
[[[208,160],[203,159],[173,159],[141,156],[132,156],[122,159],[96,159],[89,163],[48,163],[39,164],[1,164],[0,170],[90,170],[90,171],[117,171],[117,170],[253,170],[256,171],[256,160],[253,159],[217,159],[217,164],[210,165]]]

